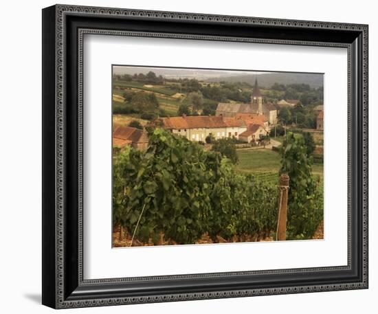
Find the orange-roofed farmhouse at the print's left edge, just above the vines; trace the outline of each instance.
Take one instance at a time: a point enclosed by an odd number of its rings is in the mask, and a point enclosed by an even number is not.
[[[113,131],[113,147],[124,148],[126,145],[146,149],[148,146],[146,131],[131,126],[117,126]]]

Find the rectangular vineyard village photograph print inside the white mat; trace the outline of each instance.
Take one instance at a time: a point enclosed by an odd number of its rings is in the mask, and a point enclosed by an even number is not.
[[[324,238],[324,75],[112,66],[113,247]]]

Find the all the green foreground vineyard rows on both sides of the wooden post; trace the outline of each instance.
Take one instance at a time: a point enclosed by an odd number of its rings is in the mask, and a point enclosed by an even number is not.
[[[146,151],[127,146],[115,157],[113,223],[120,238],[132,238],[131,245],[274,238],[278,172],[236,171],[220,153],[159,128],[149,139]],[[322,188],[305,151],[293,136],[281,149],[281,171],[291,178],[289,239],[311,238],[323,219]]]

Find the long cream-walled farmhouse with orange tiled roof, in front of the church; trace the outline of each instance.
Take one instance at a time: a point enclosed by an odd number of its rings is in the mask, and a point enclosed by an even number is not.
[[[247,125],[242,119],[222,115],[182,115],[181,117],[163,117],[160,120],[163,127],[172,133],[197,142],[205,142],[208,135],[212,135],[215,139],[223,137],[238,139],[240,133],[247,131]]]

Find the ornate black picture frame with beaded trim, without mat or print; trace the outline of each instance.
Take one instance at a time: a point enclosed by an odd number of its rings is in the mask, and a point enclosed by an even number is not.
[[[348,49],[348,265],[83,278],[82,38]],[[43,304],[55,309],[368,288],[368,25],[54,5],[43,9]]]

